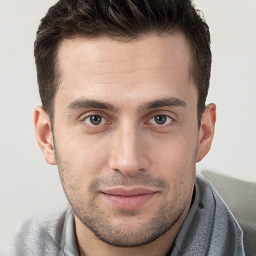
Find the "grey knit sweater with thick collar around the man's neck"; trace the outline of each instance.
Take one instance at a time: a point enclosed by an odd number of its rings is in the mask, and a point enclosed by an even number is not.
[[[27,220],[8,244],[5,255],[79,256],[70,206]],[[1,251],[1,250],[0,250]],[[242,230],[211,184],[200,174],[195,197],[166,256],[242,256]],[[155,255],[156,256],[156,255]]]

